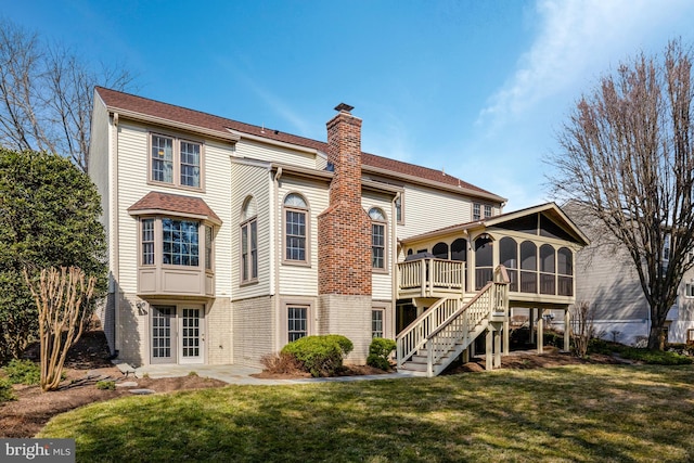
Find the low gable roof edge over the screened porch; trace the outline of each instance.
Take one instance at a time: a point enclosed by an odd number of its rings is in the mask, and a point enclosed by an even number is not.
[[[590,244],[588,237],[583,234],[583,232],[574,223],[571,219],[556,205],[556,203],[545,203],[540,204],[538,206],[526,207],[525,209],[514,210],[512,213],[500,214],[493,217],[487,217],[486,219],[475,220],[472,222],[458,223],[454,226],[444,227],[438,230],[433,230],[430,232],[422,233],[415,236],[410,236],[404,240],[400,240],[402,243],[415,242],[423,239],[432,239],[445,234],[449,234],[451,232],[458,231],[468,231],[473,229],[488,229],[494,226],[499,226],[501,223],[518,219],[522,217],[531,216],[535,214],[544,214],[549,218],[551,218],[554,222],[562,224],[566,228],[569,234],[576,240],[576,243],[587,246]]]

